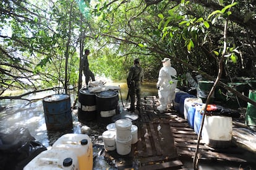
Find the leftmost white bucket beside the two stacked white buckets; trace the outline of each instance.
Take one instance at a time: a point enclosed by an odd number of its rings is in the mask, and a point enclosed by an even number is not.
[[[116,149],[116,131],[106,130],[103,132],[102,137],[106,151],[112,151]]]

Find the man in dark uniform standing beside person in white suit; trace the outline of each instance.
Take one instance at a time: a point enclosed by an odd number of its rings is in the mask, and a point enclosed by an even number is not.
[[[134,59],[134,66],[130,67],[127,77],[127,85],[130,95],[130,112],[135,111],[135,96],[137,96],[137,110],[140,110],[140,93],[143,79],[143,69],[140,67],[140,60]]]

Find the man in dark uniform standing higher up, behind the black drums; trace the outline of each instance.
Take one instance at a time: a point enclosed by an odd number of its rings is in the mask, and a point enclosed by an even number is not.
[[[88,63],[88,55],[90,54],[89,49],[85,49],[85,54],[82,57],[82,70],[83,74],[85,75],[85,83],[88,87],[88,82],[90,80],[90,77],[92,77],[92,80],[95,81],[95,77],[93,72],[89,69],[89,63]]]

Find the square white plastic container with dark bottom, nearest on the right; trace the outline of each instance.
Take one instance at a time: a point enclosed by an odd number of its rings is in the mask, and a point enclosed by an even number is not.
[[[205,144],[213,148],[226,148],[232,139],[232,117],[205,116],[202,139]]]

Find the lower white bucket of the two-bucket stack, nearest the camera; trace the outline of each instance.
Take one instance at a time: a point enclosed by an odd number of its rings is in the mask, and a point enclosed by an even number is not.
[[[116,152],[119,155],[128,155],[132,148],[132,135],[128,140],[118,140],[116,138]]]

